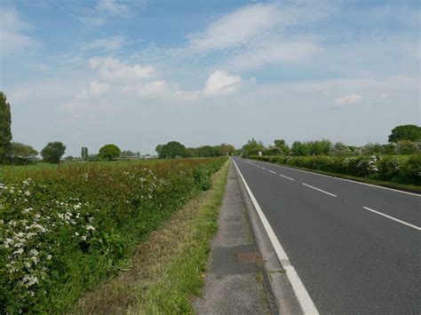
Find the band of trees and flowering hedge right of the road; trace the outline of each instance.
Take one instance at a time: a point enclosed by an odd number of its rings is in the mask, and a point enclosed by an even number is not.
[[[264,146],[254,138],[242,146],[242,155],[324,174],[362,180],[378,185],[392,185],[421,191],[421,127],[402,125],[394,128],[389,143],[365,146],[335,144],[328,139],[295,141],[283,139],[274,146]]]

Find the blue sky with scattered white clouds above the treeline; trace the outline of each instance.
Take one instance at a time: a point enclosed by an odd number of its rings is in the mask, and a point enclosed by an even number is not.
[[[417,1],[0,2],[14,141],[153,154],[420,123]]]

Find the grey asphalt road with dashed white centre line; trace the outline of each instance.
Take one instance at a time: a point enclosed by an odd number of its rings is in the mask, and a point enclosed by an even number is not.
[[[421,312],[419,195],[234,161],[317,311]]]

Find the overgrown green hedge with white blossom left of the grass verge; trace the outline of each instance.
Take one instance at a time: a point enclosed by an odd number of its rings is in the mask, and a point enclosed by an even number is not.
[[[134,245],[211,186],[226,157],[4,167],[0,313],[63,312],[130,268]]]

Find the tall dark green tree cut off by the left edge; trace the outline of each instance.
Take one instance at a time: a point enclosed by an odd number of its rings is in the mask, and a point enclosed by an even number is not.
[[[7,102],[4,92],[0,91],[0,163],[4,163],[7,160],[11,151],[11,125],[11,106]]]

